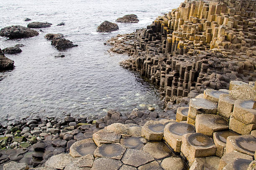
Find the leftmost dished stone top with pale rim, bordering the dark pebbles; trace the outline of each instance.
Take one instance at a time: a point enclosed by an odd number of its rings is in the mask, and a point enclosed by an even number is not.
[[[75,142],[69,149],[69,154],[76,158],[88,154],[93,154],[97,146],[92,139],[84,139]]]

